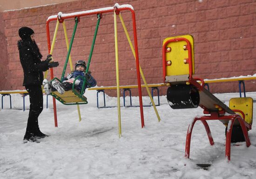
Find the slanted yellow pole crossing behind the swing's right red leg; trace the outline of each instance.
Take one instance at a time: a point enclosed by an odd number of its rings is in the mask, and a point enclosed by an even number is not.
[[[126,26],[125,26],[125,24],[124,24],[124,21],[123,21],[123,18],[122,18],[122,16],[121,16],[121,13],[119,13],[119,18],[120,18],[120,20],[121,20],[121,23],[122,23],[124,32],[125,32],[125,34],[126,34],[126,37],[127,37],[127,39],[128,39],[129,45],[130,45],[130,47],[131,47],[131,50],[132,50],[133,55],[134,55],[134,58],[135,58],[135,50],[134,50],[133,44],[132,44],[132,42],[131,42],[131,38],[129,37],[127,28],[126,28]],[[135,59],[136,59],[136,58],[135,58]],[[142,79],[143,79],[143,82],[144,82],[144,84],[145,84],[145,86],[146,86],[146,90],[147,90],[147,92],[148,92],[148,96],[150,97],[150,100],[151,100],[151,102],[152,102],[152,105],[153,105],[153,107],[154,107],[154,109],[155,109],[155,114],[156,114],[156,116],[157,116],[157,119],[158,119],[158,121],[161,121],[160,116],[159,116],[159,114],[158,114],[158,111],[157,111],[157,109],[156,109],[156,107],[155,107],[155,102],[154,102],[154,100],[153,100],[153,98],[152,98],[152,96],[151,96],[151,93],[150,93],[149,89],[148,89],[148,83],[146,82],[146,78],[144,77],[143,71],[142,71],[142,69],[141,69],[141,65],[140,65],[140,73],[141,73],[141,77],[142,77]]]

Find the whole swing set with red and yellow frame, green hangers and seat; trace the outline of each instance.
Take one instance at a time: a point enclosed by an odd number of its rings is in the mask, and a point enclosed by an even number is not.
[[[128,31],[127,31],[127,28],[126,28],[126,26],[124,24],[124,21],[122,19],[122,16],[121,16],[121,11],[126,11],[126,10],[129,10],[132,14],[135,48],[134,48],[134,46],[131,42],[131,39],[130,39]],[[120,110],[120,86],[119,86],[119,65],[118,65],[118,44],[117,44],[116,15],[119,15],[119,18],[121,20],[121,24],[123,26],[124,32],[125,32],[125,34],[127,36],[127,39],[128,39],[128,43],[131,47],[131,51],[133,52],[133,55],[134,55],[135,61],[136,61],[137,82],[138,82],[140,113],[141,113],[141,128],[144,127],[144,115],[143,115],[143,104],[142,104],[142,95],[141,95],[141,78],[140,77],[142,77],[143,82],[146,86],[148,96],[151,99],[151,102],[152,102],[152,105],[155,109],[155,113],[157,115],[158,121],[161,120],[159,115],[158,115],[157,109],[155,107],[155,102],[154,102],[154,100],[151,96],[150,90],[148,88],[148,84],[147,84],[146,79],[143,75],[143,71],[141,70],[141,66],[139,64],[137,32],[136,32],[136,23],[135,23],[135,11],[133,9],[133,6],[131,6],[131,5],[119,5],[119,4],[116,3],[115,6],[112,6],[112,7],[99,8],[99,9],[82,11],[82,12],[77,12],[77,13],[66,13],[66,14],[65,13],[58,13],[58,15],[50,16],[50,17],[48,17],[47,23],[46,23],[47,43],[48,43],[48,52],[49,52],[49,54],[52,54],[53,50],[54,50],[55,41],[56,41],[57,31],[59,29],[59,24],[61,23],[63,25],[65,40],[66,40],[66,45],[67,45],[67,58],[66,58],[66,61],[65,61],[65,64],[64,64],[64,69],[63,69],[63,72],[62,72],[62,75],[61,75],[61,79],[58,79],[58,78],[54,77],[53,69],[50,69],[50,75],[51,75],[51,80],[52,81],[53,80],[58,80],[59,82],[62,82],[63,78],[64,78],[64,75],[65,75],[65,72],[66,72],[68,61],[69,61],[69,64],[70,64],[71,71],[73,70],[72,59],[71,59],[71,56],[70,56],[70,52],[71,52],[71,49],[72,49],[72,45],[73,45],[73,41],[74,41],[74,35],[75,35],[76,29],[77,29],[77,25],[80,22],[80,18],[82,16],[97,15],[97,24],[96,24],[96,28],[95,28],[95,32],[94,32],[94,38],[93,38],[93,42],[92,42],[92,45],[91,45],[91,50],[90,50],[90,54],[89,54],[89,58],[88,58],[88,64],[87,64],[87,68],[86,68],[86,73],[87,73],[88,70],[89,70],[89,66],[90,66],[90,62],[91,62],[91,58],[92,58],[92,54],[93,54],[93,50],[94,50],[94,44],[95,44],[95,39],[96,39],[97,32],[98,32],[98,27],[99,27],[99,24],[100,24],[100,20],[102,19],[102,14],[103,13],[111,13],[111,12],[114,12],[115,66],[116,66],[116,86],[117,86],[117,106],[118,106],[118,127],[119,127],[119,137],[121,137],[121,110]],[[73,18],[75,20],[75,25],[74,25],[72,38],[70,40],[70,43],[68,43],[67,30],[66,30],[66,26],[65,26],[65,19],[73,19]],[[51,44],[50,31],[49,31],[49,23],[51,21],[56,21],[56,26],[55,26],[55,31],[54,31],[54,37],[53,37],[53,40],[52,40],[52,44]],[[85,89],[85,86],[86,85],[89,86],[89,84],[88,84],[86,78],[81,77],[81,76],[76,77],[75,80],[77,80],[79,77],[84,79],[81,92],[74,89],[74,83],[73,83],[72,90],[66,91],[62,95],[59,94],[57,91],[51,92],[51,95],[53,96],[55,127],[58,127],[55,99],[57,99],[58,101],[60,101],[61,103],[65,104],[65,105],[77,105],[79,121],[81,121],[81,114],[80,114],[79,104],[87,104],[88,103],[87,98],[83,95],[83,93],[84,93],[83,91]],[[44,78],[47,78],[47,72],[45,73]],[[74,82],[75,82],[75,80],[74,80]]]

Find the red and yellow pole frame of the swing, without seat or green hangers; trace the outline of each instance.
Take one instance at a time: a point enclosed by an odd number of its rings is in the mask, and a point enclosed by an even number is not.
[[[135,45],[135,49],[133,48],[133,45],[131,44],[130,38],[128,37],[128,33],[127,30],[125,28],[125,25],[123,24],[122,18],[121,18],[121,14],[120,11],[125,11],[125,10],[129,10],[132,13],[132,20],[133,20],[133,34],[134,34],[134,45]],[[120,19],[122,22],[122,25],[124,27],[124,30],[126,31],[126,35],[129,41],[129,44],[131,46],[131,50],[134,53],[135,56],[135,61],[136,61],[136,69],[137,69],[137,81],[138,81],[138,92],[139,92],[139,102],[140,102],[140,112],[141,112],[141,128],[144,127],[144,115],[143,115],[143,104],[142,104],[142,95],[141,95],[141,79],[140,79],[140,75],[142,76],[142,79],[144,80],[144,83],[147,85],[146,80],[144,78],[143,72],[141,70],[140,64],[139,64],[139,56],[138,56],[138,43],[137,43],[137,32],[136,32],[136,23],[135,23],[135,11],[133,6],[131,5],[119,5],[119,4],[115,4],[115,6],[113,7],[105,7],[105,8],[99,8],[99,9],[94,9],[94,10],[88,10],[88,11],[81,11],[81,12],[76,12],[76,13],[58,13],[58,15],[53,15],[48,17],[47,19],[47,23],[46,23],[46,30],[47,30],[47,43],[48,43],[48,51],[49,54],[52,54],[53,51],[53,46],[54,46],[54,39],[56,38],[56,31],[57,31],[57,26],[59,23],[63,23],[65,19],[70,19],[70,18],[80,18],[81,16],[87,16],[87,15],[93,15],[93,14],[101,14],[102,13],[110,13],[110,12],[114,12],[114,24],[115,24],[115,56],[116,56],[116,74],[117,74],[117,102],[118,102],[118,126],[119,126],[119,137],[121,137],[121,114],[120,114],[120,89],[119,89],[119,72],[118,72],[118,48],[117,48],[117,30],[116,30],[116,14],[119,15],[120,14]],[[51,21],[57,20],[57,25],[55,28],[55,32],[54,32],[54,39],[53,39],[53,44],[51,47],[51,40],[50,40],[50,32],[49,32],[49,23]],[[66,43],[67,43],[67,47],[68,47],[68,42],[67,42],[67,38],[66,38]],[[70,56],[69,56],[70,58]],[[71,64],[71,63],[70,63]],[[72,64],[71,64],[72,65]],[[54,74],[53,74],[53,69],[50,69],[50,73],[51,73],[51,79],[54,78]],[[46,74],[47,75],[47,74]],[[148,90],[148,88],[147,88]],[[148,90],[149,91],[149,90]],[[149,97],[151,98],[151,101],[153,103],[154,109],[155,109],[155,113],[158,117],[158,121],[160,121],[160,117],[158,115],[158,112],[155,108],[155,103],[153,101],[152,96],[150,95],[150,92],[148,93]],[[55,102],[55,98],[53,97],[53,106],[54,106],[54,121],[55,121],[55,127],[57,127],[57,113],[56,113],[56,102]],[[81,121],[81,115],[80,115],[80,109],[79,109],[79,105],[77,105],[77,109],[79,112],[79,116],[80,116],[80,121]]]

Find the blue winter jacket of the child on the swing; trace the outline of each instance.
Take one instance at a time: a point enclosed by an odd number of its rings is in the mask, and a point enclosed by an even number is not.
[[[76,77],[78,77],[79,75],[86,78],[87,83],[88,83],[90,86],[86,83],[86,84],[85,84],[85,89],[84,89],[83,92],[85,92],[85,90],[86,90],[87,88],[94,87],[94,86],[96,86],[96,84],[97,84],[97,82],[96,82],[96,80],[94,79],[94,77],[92,77],[91,74],[89,74],[89,73],[86,75],[85,72],[83,72],[83,71],[77,71],[77,70],[75,70],[74,72],[71,73],[71,75],[72,75],[72,76],[71,76],[70,78],[76,78]],[[67,80],[67,78],[65,77],[64,80]],[[81,78],[81,77],[78,77],[77,80],[79,80],[80,83],[79,83],[79,85],[76,85],[76,86],[75,86],[75,89],[81,91],[82,86],[83,86],[84,79]]]

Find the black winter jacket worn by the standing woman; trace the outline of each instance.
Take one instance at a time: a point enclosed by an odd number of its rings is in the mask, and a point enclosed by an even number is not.
[[[37,45],[32,40],[19,40],[20,63],[23,68],[25,85],[41,85],[43,71],[48,70],[48,62],[41,61],[42,55]]]

